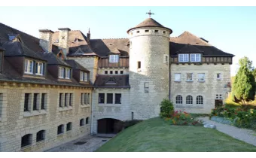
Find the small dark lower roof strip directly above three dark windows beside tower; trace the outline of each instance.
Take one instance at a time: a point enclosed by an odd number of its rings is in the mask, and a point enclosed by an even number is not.
[[[111,80],[111,82],[108,82],[110,80]],[[94,87],[130,88],[129,74],[123,74],[123,75],[98,74],[96,76],[96,81],[94,83]]]

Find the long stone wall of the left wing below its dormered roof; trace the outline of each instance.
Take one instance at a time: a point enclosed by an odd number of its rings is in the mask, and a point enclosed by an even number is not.
[[[1,84],[4,94],[2,120],[0,121],[0,151],[47,150],[83,135],[90,134],[90,122],[80,126],[80,120],[90,118],[90,105],[80,105],[81,93],[92,94],[91,89],[81,87],[33,86],[24,84]],[[38,93],[38,107],[41,107],[41,93],[46,93],[46,109],[32,110],[33,95],[29,109],[24,112],[25,93]],[[72,106],[59,107],[59,93],[72,93]],[[91,99],[90,95],[90,99]],[[62,97],[62,103],[64,97]],[[68,101],[69,102],[69,99]],[[8,106],[7,106],[8,105]],[[72,122],[72,130],[66,131],[66,124]],[[64,124],[64,133],[57,135],[57,127]],[[45,130],[44,141],[36,142],[36,134]],[[32,134],[32,144],[21,147],[23,135]]]

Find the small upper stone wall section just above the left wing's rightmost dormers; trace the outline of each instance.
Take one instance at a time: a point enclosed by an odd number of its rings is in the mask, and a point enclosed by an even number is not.
[[[68,56],[68,59],[74,59],[76,62],[90,71],[90,81],[94,84],[98,71],[98,57],[96,56]]]

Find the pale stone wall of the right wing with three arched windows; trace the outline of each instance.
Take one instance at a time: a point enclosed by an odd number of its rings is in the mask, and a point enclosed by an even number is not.
[[[181,73],[181,82],[174,81],[175,73]],[[186,73],[193,73],[193,81],[187,81]],[[205,73],[205,81],[197,80],[198,73]],[[221,73],[221,78],[217,79],[217,73]],[[227,98],[230,87],[230,65],[229,64],[172,64],[171,65],[171,100],[175,105],[175,110],[184,110],[193,113],[210,113],[215,108],[215,99]],[[175,97],[182,96],[182,104],[176,104]],[[193,96],[193,104],[186,104],[186,96]],[[203,96],[203,105],[197,105],[197,96]]]

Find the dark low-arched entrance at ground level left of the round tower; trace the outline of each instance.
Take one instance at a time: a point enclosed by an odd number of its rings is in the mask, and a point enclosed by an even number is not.
[[[98,120],[98,133],[116,134],[122,130],[120,120],[105,118]]]

